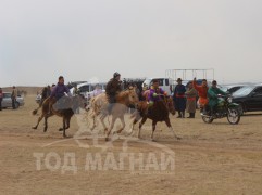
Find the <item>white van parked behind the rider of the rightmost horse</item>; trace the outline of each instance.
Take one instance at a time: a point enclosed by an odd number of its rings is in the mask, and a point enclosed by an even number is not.
[[[174,81],[171,78],[147,78],[142,82],[142,87],[148,87],[148,88],[151,87],[154,79],[159,80],[160,88],[162,88],[164,91],[166,91],[169,95],[172,94]]]

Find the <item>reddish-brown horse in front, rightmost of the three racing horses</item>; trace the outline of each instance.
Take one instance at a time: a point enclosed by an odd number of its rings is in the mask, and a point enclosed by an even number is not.
[[[146,122],[146,120],[149,118],[152,120],[152,134],[151,139],[153,141],[153,133],[155,130],[155,126],[159,121],[165,121],[166,126],[170,128],[170,130],[173,132],[174,136],[175,132],[171,126],[169,114],[175,115],[175,106],[173,103],[173,99],[171,96],[163,96],[162,101],[154,102],[153,106],[149,108],[149,112],[147,110],[147,101],[139,102],[138,104],[138,112],[133,115],[135,117],[130,131],[133,132],[134,126],[137,121],[141,119],[139,122],[139,130],[138,130],[138,138],[140,138],[140,131],[142,125]]]

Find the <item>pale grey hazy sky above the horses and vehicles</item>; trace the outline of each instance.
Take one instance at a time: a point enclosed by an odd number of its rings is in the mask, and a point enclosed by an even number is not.
[[[0,0],[0,86],[214,68],[262,82],[261,0]]]

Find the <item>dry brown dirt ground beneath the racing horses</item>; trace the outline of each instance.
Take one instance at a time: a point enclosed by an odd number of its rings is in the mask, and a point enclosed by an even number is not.
[[[124,139],[115,140],[111,147],[101,147],[107,146],[102,138],[93,144],[90,133],[76,141],[73,138],[80,128],[77,117],[66,131],[68,139],[58,131],[62,125],[59,117],[49,119],[46,133],[43,122],[33,130],[38,117],[30,115],[37,106],[34,98],[27,96],[25,106],[17,110],[0,112],[0,194],[262,194],[262,115],[244,116],[237,126],[226,119],[207,125],[199,114],[196,119],[172,116],[172,126],[182,140],[174,140],[165,125],[159,123],[155,143],[133,140],[125,147],[137,156],[159,153],[157,145],[169,148],[174,154],[174,170],[144,171],[138,162],[135,171],[129,165],[122,170],[86,170],[87,154],[101,154],[104,159],[110,153],[118,162]],[[151,133],[148,127],[150,121],[141,132],[146,141]],[[47,155],[61,157],[63,166],[68,153],[75,155],[75,172],[63,172],[59,165],[55,170],[47,167],[58,162],[55,157],[48,160]],[[34,154],[43,154],[39,169]]]

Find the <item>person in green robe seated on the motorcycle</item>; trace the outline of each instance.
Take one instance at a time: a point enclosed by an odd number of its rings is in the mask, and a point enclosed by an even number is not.
[[[211,88],[209,88],[208,90],[209,107],[211,109],[211,116],[215,114],[216,106],[219,104],[219,94],[226,95],[226,92],[217,88],[216,80],[213,80]]]

